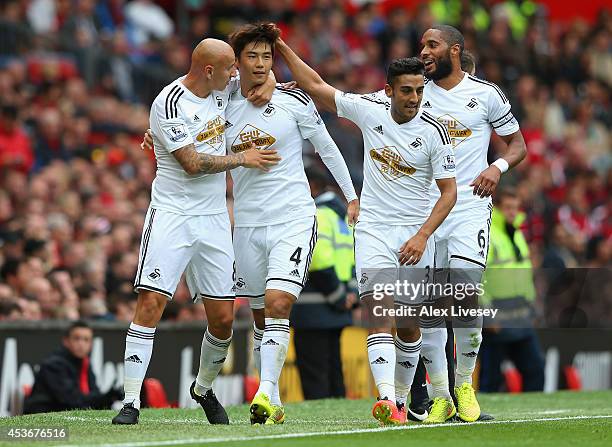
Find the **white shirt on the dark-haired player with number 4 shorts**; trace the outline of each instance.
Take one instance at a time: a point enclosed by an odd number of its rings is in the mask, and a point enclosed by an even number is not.
[[[232,170],[234,225],[266,226],[314,216],[302,143],[327,129],[310,97],[299,89],[277,88],[266,106],[255,107],[238,90],[231,95],[226,118],[228,153],[244,151],[252,142],[260,150],[277,150],[281,157],[268,172]]]

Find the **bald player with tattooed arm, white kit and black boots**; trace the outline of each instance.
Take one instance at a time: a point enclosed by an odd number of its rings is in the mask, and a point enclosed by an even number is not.
[[[225,173],[239,166],[267,172],[280,161],[276,151],[253,146],[225,155],[225,108],[232,91],[239,88],[232,80],[235,62],[227,43],[204,39],[193,51],[189,72],[167,85],[151,106],[157,175],[134,282],[136,313],[126,336],[124,406],[113,424],[138,423],[155,327],[183,272],[194,302],[203,302],[208,318],[190,393],[211,424],[229,423],[212,391],[232,339],[234,308]],[[274,85],[271,78],[264,94],[251,99],[263,96],[267,102]]]

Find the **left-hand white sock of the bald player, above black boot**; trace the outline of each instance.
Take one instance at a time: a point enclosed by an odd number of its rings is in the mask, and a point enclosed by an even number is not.
[[[125,392],[124,404],[131,403],[140,408],[140,389],[147,374],[147,368],[153,353],[155,328],[130,323],[125,337],[125,356],[123,357]]]

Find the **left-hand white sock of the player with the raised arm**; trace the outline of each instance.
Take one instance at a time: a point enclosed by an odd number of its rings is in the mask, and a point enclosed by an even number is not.
[[[368,361],[381,399],[395,398],[395,344],[385,332],[367,338]]]

